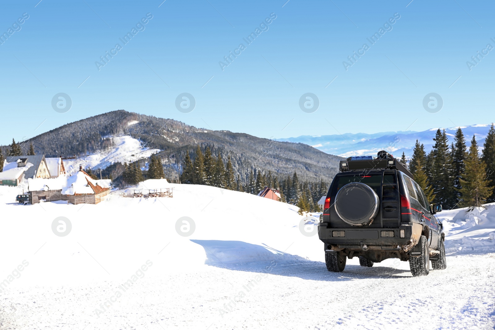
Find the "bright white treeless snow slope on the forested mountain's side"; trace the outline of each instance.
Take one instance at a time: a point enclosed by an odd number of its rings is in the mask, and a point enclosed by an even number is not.
[[[127,135],[107,137],[106,139],[113,140],[114,146],[112,148],[97,154],[64,160],[66,172],[72,174],[75,171],[79,171],[80,164],[83,165],[83,168],[104,169],[116,162],[133,162],[160,151],[159,149],[150,149],[143,146],[143,142]]]

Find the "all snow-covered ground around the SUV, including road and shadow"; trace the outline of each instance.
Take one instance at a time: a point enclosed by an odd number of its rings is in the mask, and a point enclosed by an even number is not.
[[[396,259],[329,273],[295,206],[163,186],[26,206],[0,186],[0,329],[494,329],[494,204],[440,213],[447,269],[412,278]]]

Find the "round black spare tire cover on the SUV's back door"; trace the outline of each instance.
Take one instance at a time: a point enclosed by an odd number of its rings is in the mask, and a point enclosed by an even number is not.
[[[378,195],[369,186],[352,182],[342,187],[335,196],[335,211],[347,224],[364,226],[378,213]]]

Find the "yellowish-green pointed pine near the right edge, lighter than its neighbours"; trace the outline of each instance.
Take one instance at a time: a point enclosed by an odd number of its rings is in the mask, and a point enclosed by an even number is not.
[[[489,187],[488,180],[485,180],[487,165],[478,155],[478,143],[474,135],[465,165],[465,173],[460,179],[462,187],[462,201],[460,205],[462,207],[469,207],[469,210],[472,210],[475,207],[482,206],[492,192],[492,187]]]

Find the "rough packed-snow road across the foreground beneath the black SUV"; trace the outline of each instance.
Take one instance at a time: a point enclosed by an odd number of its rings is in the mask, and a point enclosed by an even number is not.
[[[321,262],[267,262],[269,273],[256,265],[150,275],[125,292],[114,282],[12,290],[1,295],[2,329],[493,329],[495,254],[447,262],[419,278],[405,262],[362,268],[353,259],[342,274]]]

